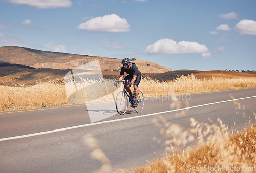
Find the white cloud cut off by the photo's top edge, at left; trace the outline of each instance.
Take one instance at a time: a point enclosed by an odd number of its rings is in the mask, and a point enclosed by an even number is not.
[[[25,4],[36,8],[59,8],[70,7],[72,2],[70,0],[9,0],[13,4]]]

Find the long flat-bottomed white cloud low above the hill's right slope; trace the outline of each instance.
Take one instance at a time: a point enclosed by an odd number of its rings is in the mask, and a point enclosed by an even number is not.
[[[176,41],[166,38],[147,46],[145,52],[150,54],[208,53],[208,48],[197,42],[180,41],[177,44]]]

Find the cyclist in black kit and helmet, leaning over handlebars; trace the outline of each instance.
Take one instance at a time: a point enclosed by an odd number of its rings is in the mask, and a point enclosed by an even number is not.
[[[138,67],[136,66],[136,64],[134,62],[130,62],[129,58],[124,58],[121,62],[123,64],[123,67],[121,68],[120,71],[120,76],[118,78],[118,80],[122,80],[124,72],[126,72],[128,75],[124,78],[124,80],[128,80],[128,84],[125,86],[126,91],[129,93],[130,98],[133,99],[134,96],[134,102],[133,102],[133,107],[136,107],[137,101],[138,101],[138,85],[140,83],[140,79],[141,79],[141,73],[138,69]],[[134,84],[134,91],[132,94],[131,92],[131,85],[132,83]],[[118,83],[115,82],[115,86]]]

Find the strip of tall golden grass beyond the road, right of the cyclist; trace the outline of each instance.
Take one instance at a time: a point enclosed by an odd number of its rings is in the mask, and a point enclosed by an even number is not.
[[[143,91],[146,97],[229,90],[244,87],[256,87],[256,78],[240,77],[228,79],[212,77],[212,79],[197,79],[194,75],[191,75],[181,76],[168,82],[145,78],[139,85],[140,90]]]

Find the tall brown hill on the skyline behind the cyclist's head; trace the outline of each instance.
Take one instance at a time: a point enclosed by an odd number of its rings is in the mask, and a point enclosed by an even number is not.
[[[74,69],[84,63],[98,60],[102,71],[118,71],[122,64],[121,59],[104,58],[89,55],[41,51],[18,46],[0,47],[0,61],[7,63],[23,64],[26,66],[50,69]],[[172,69],[156,63],[135,60],[141,73],[164,73]]]

